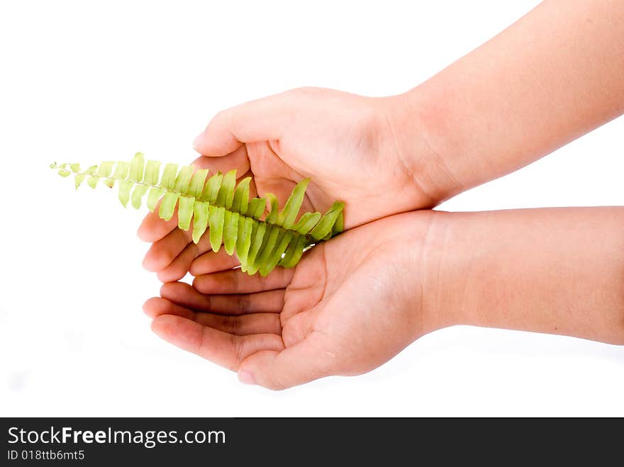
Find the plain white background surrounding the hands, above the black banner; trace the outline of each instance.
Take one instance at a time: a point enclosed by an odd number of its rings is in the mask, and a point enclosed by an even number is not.
[[[2,1],[0,415],[623,416],[624,347],[474,327],[365,376],[243,386],[150,332],[143,213],[48,169],[189,162],[213,113],[296,86],[406,91],[537,3]],[[442,208],[622,205],[623,136],[620,118]]]

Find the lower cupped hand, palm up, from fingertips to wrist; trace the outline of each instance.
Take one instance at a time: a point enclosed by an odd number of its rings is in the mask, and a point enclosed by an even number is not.
[[[431,218],[420,211],[357,227],[266,278],[213,272],[221,258],[207,253],[195,288],[165,283],[144,310],[162,339],[244,383],[284,389],[364,373],[437,327],[421,308]]]

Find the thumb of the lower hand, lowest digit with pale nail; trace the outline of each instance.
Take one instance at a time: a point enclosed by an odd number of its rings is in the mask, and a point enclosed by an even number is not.
[[[335,374],[335,351],[318,332],[285,350],[264,350],[244,359],[238,369],[242,383],[281,390]]]

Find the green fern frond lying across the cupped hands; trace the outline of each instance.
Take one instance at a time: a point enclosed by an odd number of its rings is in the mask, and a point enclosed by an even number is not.
[[[208,230],[211,248],[236,254],[247,274],[269,274],[277,265],[293,267],[303,251],[342,232],[344,203],[336,202],[325,213],[299,216],[309,179],[297,184],[282,210],[272,193],[251,198],[250,177],[236,183],[236,171],[208,176],[208,169],[178,167],[145,161],[137,152],[130,162],[106,161],[81,169],[79,164],[50,164],[63,177],[74,175],[76,189],[86,180],[94,189],[99,181],[118,186],[118,198],[138,209],[145,202],[151,211],[160,201],[158,215],[170,220],[177,209],[178,227],[191,230],[195,243]],[[147,195],[147,196],[146,196]],[[269,209],[267,210],[267,203]],[[192,227],[191,227],[192,225]]]

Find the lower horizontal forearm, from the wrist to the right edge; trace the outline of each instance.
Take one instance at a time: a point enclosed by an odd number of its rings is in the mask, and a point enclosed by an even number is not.
[[[436,213],[425,314],[624,344],[624,208]]]

